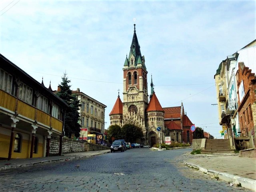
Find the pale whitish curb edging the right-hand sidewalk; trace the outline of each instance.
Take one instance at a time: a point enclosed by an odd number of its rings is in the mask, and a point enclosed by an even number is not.
[[[183,163],[188,167],[198,168],[201,172],[207,173],[214,177],[218,177],[220,180],[234,182],[234,184],[240,183],[242,187],[256,191],[256,180],[254,180],[254,179],[235,176],[232,174],[218,172],[218,171],[214,171],[214,170],[208,170],[208,169],[198,166],[196,164],[191,164],[191,163],[187,163],[187,162],[183,162]]]

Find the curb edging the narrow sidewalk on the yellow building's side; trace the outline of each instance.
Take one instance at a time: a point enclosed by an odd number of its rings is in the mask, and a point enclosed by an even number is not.
[[[0,168],[0,171],[6,170],[6,169],[11,169],[11,168],[20,168],[20,167],[28,167],[28,166],[33,166],[36,164],[44,164],[44,163],[54,163],[54,162],[64,162],[64,161],[72,161],[72,160],[78,160],[86,157],[92,157],[92,156],[97,156],[97,155],[102,155],[106,154],[109,152],[102,152],[99,154],[93,154],[93,155],[85,155],[85,156],[75,156],[75,157],[68,157],[68,158],[59,158],[59,159],[52,159],[52,160],[44,160],[44,161],[38,161],[38,162],[32,162],[32,163],[26,163],[26,164],[19,164],[19,165],[7,165],[4,167]]]

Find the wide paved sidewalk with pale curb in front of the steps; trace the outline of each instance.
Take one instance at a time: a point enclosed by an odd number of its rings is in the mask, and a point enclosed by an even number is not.
[[[231,154],[190,155],[184,160],[187,166],[198,168],[231,184],[256,191],[256,158]]]

